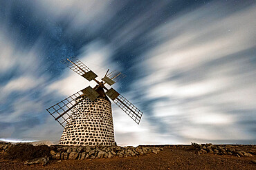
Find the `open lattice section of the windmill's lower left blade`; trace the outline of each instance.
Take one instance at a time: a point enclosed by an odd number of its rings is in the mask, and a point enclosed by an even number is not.
[[[62,125],[62,127],[65,128],[65,124],[67,123],[68,118],[71,116],[69,111],[72,107],[80,103],[81,100],[76,102],[75,99],[82,94],[82,91],[79,91],[46,110],[58,123],[60,123],[60,125]]]

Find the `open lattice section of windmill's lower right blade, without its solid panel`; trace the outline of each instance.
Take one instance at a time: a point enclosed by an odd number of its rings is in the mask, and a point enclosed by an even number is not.
[[[121,94],[115,100],[113,100],[118,107],[120,107],[123,111],[125,111],[128,116],[130,116],[136,123],[140,123],[140,119],[143,116],[143,112],[140,111],[136,106],[129,102],[125,97]]]

